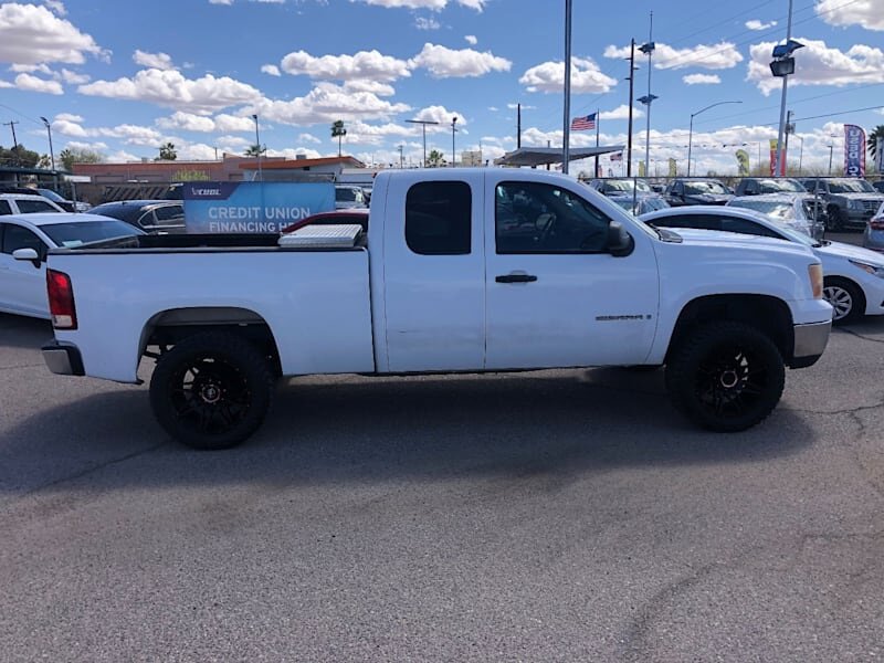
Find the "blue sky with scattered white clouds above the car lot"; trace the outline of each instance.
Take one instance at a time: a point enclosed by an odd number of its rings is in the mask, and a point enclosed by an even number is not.
[[[211,159],[254,143],[252,114],[271,155],[337,154],[329,126],[344,119],[345,154],[366,162],[421,159],[420,129],[443,123],[428,149],[494,158],[523,145],[561,143],[564,0],[57,0],[0,3],[0,117],[19,120],[27,147],[88,147],[108,160]],[[788,0],[573,1],[571,115],[601,110],[601,143],[625,143],[630,39],[648,40],[654,12],[651,170],[686,164],[734,172],[745,144],[753,165],[776,138],[780,87],[769,73],[785,41]],[[884,124],[884,0],[796,0],[797,74],[789,108],[807,169],[835,165],[844,123]],[[639,97],[648,62],[639,59]],[[644,107],[635,103],[634,159],[644,158]],[[12,143],[3,127],[0,144]],[[572,146],[594,134],[572,134]],[[803,151],[799,146],[803,146]],[[727,146],[727,147],[724,147]],[[762,161],[767,159],[761,155]],[[603,160],[607,168],[607,160]],[[581,166],[575,169],[580,169]],[[619,167],[615,167],[619,168]]]

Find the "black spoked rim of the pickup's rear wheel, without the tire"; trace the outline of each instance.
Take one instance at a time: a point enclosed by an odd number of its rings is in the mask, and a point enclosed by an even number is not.
[[[197,356],[169,376],[169,399],[178,422],[193,432],[220,435],[249,413],[252,400],[245,377],[219,356]]]

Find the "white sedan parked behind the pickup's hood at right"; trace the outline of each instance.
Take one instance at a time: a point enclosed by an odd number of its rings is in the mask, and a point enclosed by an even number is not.
[[[846,323],[863,315],[884,315],[884,256],[874,251],[813,240],[760,212],[733,207],[672,208],[649,212],[639,219],[656,228],[723,230],[804,244],[822,263],[823,296],[834,309],[833,322]]]

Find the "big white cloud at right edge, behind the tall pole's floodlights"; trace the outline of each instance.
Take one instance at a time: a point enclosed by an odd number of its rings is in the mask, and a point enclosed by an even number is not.
[[[854,44],[848,51],[830,49],[822,40],[797,39],[806,48],[796,52],[796,71],[789,86],[884,83],[884,51]],[[764,95],[780,90],[782,83],[770,75],[770,52],[776,44],[762,42],[750,46],[747,81],[756,83]]]

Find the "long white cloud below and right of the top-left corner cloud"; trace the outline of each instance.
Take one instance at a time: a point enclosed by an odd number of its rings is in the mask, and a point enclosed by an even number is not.
[[[95,81],[81,85],[81,94],[117,99],[149,102],[159,106],[209,112],[257,101],[261,93],[228,76],[207,74],[201,78],[186,78],[176,70],[141,70],[133,78]]]

